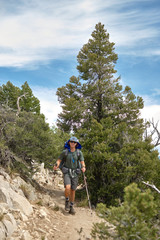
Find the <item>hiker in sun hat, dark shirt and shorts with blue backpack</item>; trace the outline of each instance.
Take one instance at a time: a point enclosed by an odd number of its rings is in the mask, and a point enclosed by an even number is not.
[[[78,175],[85,172],[85,162],[83,153],[80,151],[81,144],[76,137],[71,137],[65,143],[65,150],[62,151],[53,169],[61,168],[63,172],[65,187],[65,210],[70,214],[75,214],[73,208],[75,191],[78,185]],[[63,166],[61,164],[63,163]]]

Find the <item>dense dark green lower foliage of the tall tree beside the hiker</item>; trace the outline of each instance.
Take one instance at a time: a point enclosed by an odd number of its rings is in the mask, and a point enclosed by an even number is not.
[[[101,123],[93,119],[90,129],[81,129],[79,136],[85,146],[86,174],[93,204],[117,204],[119,199],[123,200],[123,190],[131,182],[148,180],[159,186],[158,153],[149,141],[139,138],[136,126],[130,128],[125,123],[114,126],[111,118]]]

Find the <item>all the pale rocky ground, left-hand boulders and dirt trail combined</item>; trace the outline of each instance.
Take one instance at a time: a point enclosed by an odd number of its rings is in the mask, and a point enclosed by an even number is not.
[[[39,176],[40,175],[44,178],[45,170],[42,168]],[[2,185],[8,186],[5,191],[11,192],[12,190],[15,190],[16,194],[18,193],[21,195],[21,201],[23,205],[21,206],[20,202],[18,203],[19,205],[17,203],[15,204],[16,200],[12,199],[13,203],[8,204],[7,206],[8,200],[5,200],[3,197],[5,193],[2,194],[3,187],[1,187],[2,189],[0,190],[2,191],[0,193],[0,208],[1,212],[5,212],[4,217],[0,222],[1,239],[91,239],[90,232],[92,225],[95,222],[100,222],[101,219],[95,214],[94,211],[91,212],[89,208],[77,207],[76,204],[76,214],[74,216],[70,215],[64,210],[64,188],[60,175],[56,175],[56,177],[54,177],[54,182],[51,181],[51,178],[53,180],[53,175],[47,176],[47,179],[50,180],[48,183],[52,182],[53,184],[42,184],[42,181],[40,181],[41,192],[37,192],[35,189],[29,189],[28,184],[25,183],[19,176],[14,176],[11,178],[3,171],[1,171],[0,176]],[[27,184],[27,187],[24,187],[25,184]],[[28,201],[30,207],[33,209],[33,211],[30,211],[29,213],[26,211],[27,207],[29,207],[27,206],[28,203],[24,203],[24,200],[22,199],[22,186],[23,191],[28,189],[28,193],[32,195],[32,197],[30,197],[28,194],[28,198],[31,200],[27,200],[25,198],[25,201]],[[9,196],[9,194],[10,193],[8,192],[7,196]],[[23,195],[23,198],[24,197],[25,196]],[[26,206],[24,206],[24,204]],[[12,217],[9,218],[9,215],[11,214]],[[11,219],[15,219],[15,222],[13,220],[11,221]],[[5,226],[5,228],[3,228],[2,225]],[[6,229],[5,234],[4,229]]]

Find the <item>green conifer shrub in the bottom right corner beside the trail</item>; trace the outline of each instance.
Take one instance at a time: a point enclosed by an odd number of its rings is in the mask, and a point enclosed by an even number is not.
[[[150,192],[141,192],[135,183],[125,188],[124,203],[119,207],[107,209],[100,204],[97,211],[105,221],[95,224],[92,230],[94,239],[117,240],[157,240],[157,206]],[[111,229],[112,228],[112,229]]]

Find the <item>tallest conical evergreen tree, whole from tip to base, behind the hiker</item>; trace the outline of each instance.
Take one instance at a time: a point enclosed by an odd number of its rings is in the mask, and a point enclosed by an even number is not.
[[[58,126],[81,138],[94,203],[115,204],[133,181],[160,184],[158,152],[151,139],[143,139],[143,99],[128,86],[123,90],[115,78],[117,58],[114,43],[98,23],[77,56],[79,77],[57,91],[63,109]]]

